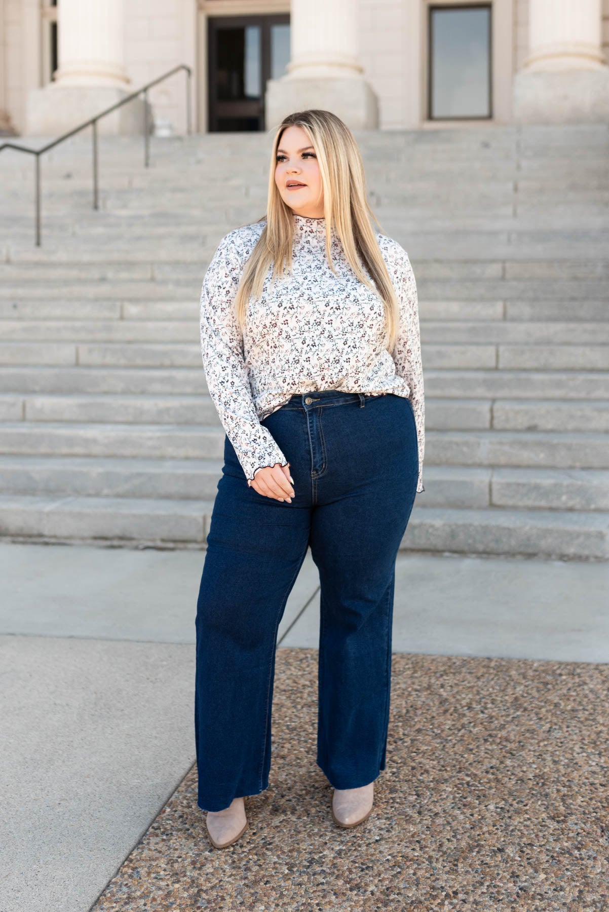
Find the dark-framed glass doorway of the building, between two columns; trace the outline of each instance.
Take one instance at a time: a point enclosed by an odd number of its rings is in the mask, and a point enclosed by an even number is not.
[[[207,129],[264,130],[267,80],[290,60],[290,16],[212,16],[208,25]]]

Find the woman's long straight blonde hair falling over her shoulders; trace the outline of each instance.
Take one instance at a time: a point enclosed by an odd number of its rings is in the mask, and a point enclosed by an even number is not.
[[[357,278],[383,301],[386,316],[384,345],[393,354],[399,326],[399,306],[387,264],[370,223],[372,218],[380,228],[366,199],[364,163],[351,130],[340,118],[326,110],[296,111],[285,117],[276,130],[269,169],[266,214],[257,220],[262,222],[266,219],[266,224],[243,268],[235,295],[233,306],[237,323],[243,332],[247,302],[251,295],[258,298],[262,294],[264,278],[271,264],[272,283],[276,276],[292,270],[293,210],[282,199],[274,178],[279,143],[284,130],[292,126],[305,130],[319,162],[324,190],[325,253],[328,264],[336,275],[331,256],[330,233],[330,228],[334,226],[346,260]],[[370,283],[362,264],[375,281],[376,288]]]

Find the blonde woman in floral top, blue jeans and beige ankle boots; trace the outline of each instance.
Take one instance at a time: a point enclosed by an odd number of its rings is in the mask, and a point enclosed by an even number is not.
[[[266,215],[226,234],[201,290],[224,465],[197,605],[198,805],[212,845],[268,787],[277,627],[319,569],[316,762],[355,826],[386,766],[397,551],[424,491],[417,287],[371,227],[363,163],[325,110],[286,117]],[[376,219],[375,219],[376,221]]]

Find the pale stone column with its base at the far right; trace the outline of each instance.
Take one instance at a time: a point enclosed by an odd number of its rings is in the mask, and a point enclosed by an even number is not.
[[[514,119],[609,119],[601,0],[529,0],[529,54],[514,78]]]

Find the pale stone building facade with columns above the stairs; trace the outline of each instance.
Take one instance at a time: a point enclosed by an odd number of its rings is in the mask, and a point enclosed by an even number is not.
[[[609,121],[609,0],[0,0],[0,131],[56,136],[178,64],[198,132]],[[184,71],[150,89],[186,130]],[[141,130],[143,102],[100,131]]]

